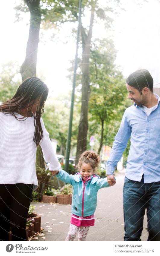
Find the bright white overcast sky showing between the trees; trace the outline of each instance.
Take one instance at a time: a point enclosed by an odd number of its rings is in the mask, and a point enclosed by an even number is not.
[[[105,3],[105,0],[99,0]],[[24,15],[23,21],[15,21],[13,0],[1,2],[1,42],[0,42],[0,64],[8,61],[17,61],[20,65],[25,58],[25,50],[28,39],[30,16]],[[16,1],[18,4],[19,0]],[[155,84],[160,82],[160,2],[149,0],[144,2],[143,7],[136,4],[136,0],[122,0],[126,11],[121,12],[114,22],[114,41],[118,50],[116,64],[122,67],[125,76],[138,68],[146,68],[152,74]],[[104,37],[107,33],[102,27],[94,24],[93,35]],[[73,24],[72,24],[73,26]],[[105,32],[105,33],[104,33]],[[70,60],[74,59],[76,45],[70,37],[69,24],[61,30],[58,37],[61,41],[49,40],[49,33],[45,32],[43,40],[39,43],[37,74],[45,77],[45,83],[50,91],[54,90],[57,96],[61,92],[67,92],[72,87],[72,81],[66,76]],[[69,41],[63,44],[64,36]]]

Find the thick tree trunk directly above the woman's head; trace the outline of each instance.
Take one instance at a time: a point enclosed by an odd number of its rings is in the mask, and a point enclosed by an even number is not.
[[[30,10],[30,31],[26,47],[26,57],[20,67],[22,81],[36,76],[37,51],[39,43],[39,29],[41,23],[40,0],[24,1]]]

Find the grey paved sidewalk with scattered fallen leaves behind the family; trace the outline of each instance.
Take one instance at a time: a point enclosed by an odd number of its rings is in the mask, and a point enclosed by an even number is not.
[[[116,185],[98,192],[95,226],[89,228],[86,241],[123,241],[123,183],[124,172],[116,174]],[[31,202],[41,215],[43,236],[36,235],[32,241],[65,241],[71,218],[71,205]],[[145,214],[141,239],[147,241],[147,218]],[[77,241],[77,237],[75,239]]]

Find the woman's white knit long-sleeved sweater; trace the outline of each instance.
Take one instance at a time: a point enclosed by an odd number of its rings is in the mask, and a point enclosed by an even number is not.
[[[42,118],[41,125],[43,139],[40,146],[43,155],[50,162],[49,170],[59,170],[61,165],[55,156]],[[11,114],[0,112],[0,184],[24,183],[34,184],[33,189],[38,187],[34,131],[34,117],[19,121]]]

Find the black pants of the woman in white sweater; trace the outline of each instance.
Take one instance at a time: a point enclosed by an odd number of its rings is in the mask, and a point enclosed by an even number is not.
[[[26,219],[32,198],[33,184],[0,184],[0,241],[26,240]]]

